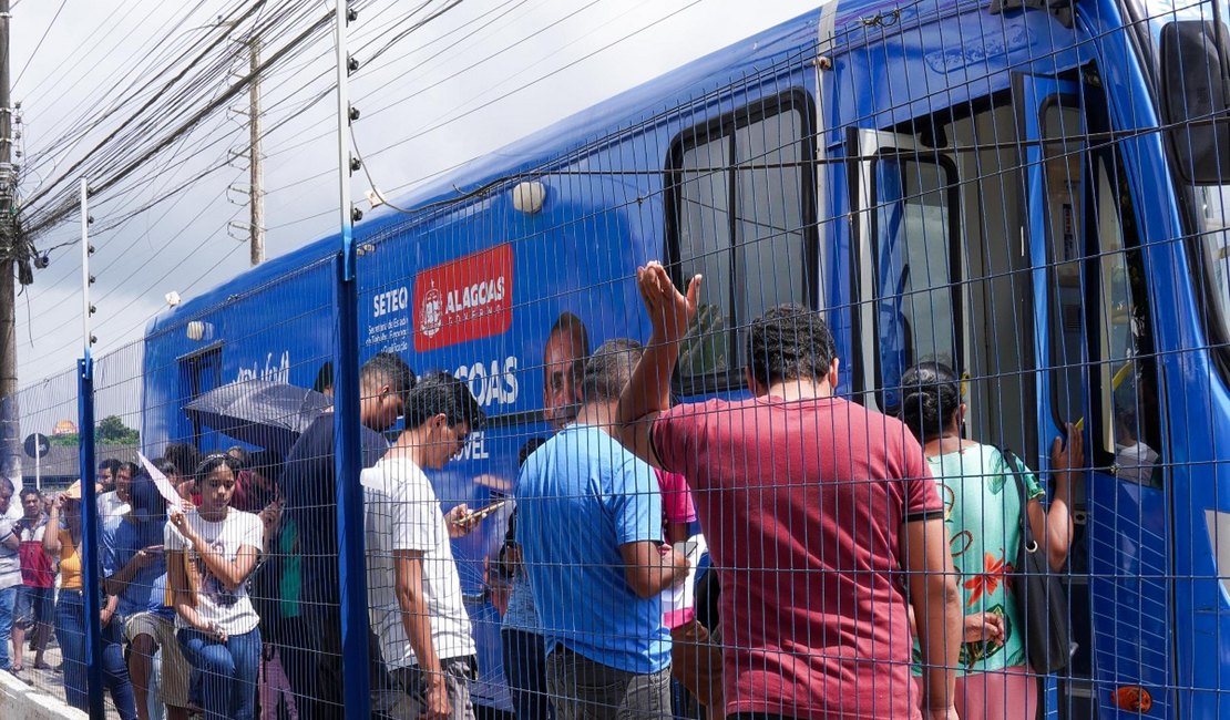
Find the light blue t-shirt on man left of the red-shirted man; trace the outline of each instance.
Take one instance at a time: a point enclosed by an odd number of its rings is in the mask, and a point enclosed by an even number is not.
[[[632,591],[619,547],[662,542],[653,468],[598,428],[569,425],[522,467],[517,537],[547,652],[647,675],[670,661],[662,601]]]

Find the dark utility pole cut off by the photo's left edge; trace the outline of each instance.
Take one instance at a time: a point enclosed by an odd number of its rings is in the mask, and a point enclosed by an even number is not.
[[[12,100],[9,97],[9,0],[0,0],[0,475],[21,478],[20,415],[17,413],[17,257],[12,170]]]

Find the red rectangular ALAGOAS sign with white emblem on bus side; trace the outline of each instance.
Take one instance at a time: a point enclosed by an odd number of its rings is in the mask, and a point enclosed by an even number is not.
[[[415,350],[498,335],[513,322],[513,246],[449,260],[415,276]]]

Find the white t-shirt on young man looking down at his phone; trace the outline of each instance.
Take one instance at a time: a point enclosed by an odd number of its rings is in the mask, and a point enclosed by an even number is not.
[[[391,450],[362,475],[371,630],[390,668],[417,665],[401,622],[394,550],[419,550],[435,655],[467,657],[476,650],[440,503],[423,471],[397,455]]]

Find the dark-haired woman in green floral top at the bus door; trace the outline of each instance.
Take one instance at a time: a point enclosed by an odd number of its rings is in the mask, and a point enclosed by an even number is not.
[[[1017,461],[1011,468],[999,448],[961,436],[966,403],[950,367],[924,362],[908,370],[902,376],[900,415],[922,444],[945,504],[952,562],[961,574],[966,623],[957,713],[964,720],[1034,718],[1037,682],[1009,582],[1021,546],[1021,494],[1012,473],[1025,479],[1030,528],[1058,570],[1071,543],[1069,496],[1075,468],[1084,463],[1081,435],[1069,424],[1068,447],[1060,437],[1052,442],[1055,493],[1043,507],[1047,493],[1027,467]]]

